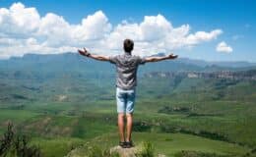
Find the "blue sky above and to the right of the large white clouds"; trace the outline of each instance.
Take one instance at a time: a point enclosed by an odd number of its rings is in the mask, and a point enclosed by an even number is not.
[[[53,13],[59,17],[63,17],[65,22],[67,22],[70,26],[79,25],[82,23],[82,20],[86,19],[89,15],[94,15],[97,11],[101,11],[103,16],[107,18],[107,23],[111,25],[111,28],[106,30],[107,32],[104,31],[106,34],[113,32],[116,26],[120,25],[124,20],[126,20],[129,24],[140,25],[145,22],[145,16],[153,16],[153,18],[156,18],[158,15],[161,15],[164,20],[171,24],[172,28],[179,28],[180,26],[188,25],[190,28],[187,36],[189,36],[189,34],[195,34],[198,31],[210,33],[212,30],[221,29],[222,33],[216,34],[216,36],[213,36],[211,39],[199,38],[195,41],[196,44],[192,44],[192,46],[188,43],[182,43],[181,46],[176,47],[174,45],[174,48],[173,46],[165,48],[163,45],[163,47],[160,47],[159,49],[154,49],[153,47],[149,49],[146,48],[145,51],[152,50],[154,52],[151,53],[156,53],[157,51],[163,49],[163,51],[166,53],[168,53],[168,51],[174,52],[180,57],[188,57],[193,59],[203,59],[208,61],[242,60],[256,62],[254,43],[256,41],[256,1],[253,0],[62,0],[55,3],[52,3],[50,0],[0,0],[0,8],[9,9],[15,2],[21,2],[25,8],[35,8],[41,19],[48,13]],[[155,19],[151,20],[155,21]],[[5,21],[2,23],[5,23]],[[150,29],[147,29],[147,31],[148,30]],[[28,32],[28,34],[30,33],[31,31]],[[4,34],[5,37],[8,36],[6,34],[7,33]],[[8,34],[10,34],[10,32],[8,32]],[[22,33],[22,35],[28,36],[25,33]],[[21,36],[20,32],[19,36]],[[32,37],[33,36],[30,38]],[[34,38],[38,42],[41,38],[45,38],[45,35],[44,37]],[[63,37],[61,38],[63,39]],[[58,38],[56,37],[56,39]],[[93,46],[96,46],[97,44],[93,43],[92,40],[94,39],[90,39],[81,39],[81,42],[85,42],[85,46],[91,47],[92,50],[95,50],[95,47]],[[49,41],[52,40],[47,40],[47,43],[49,43]],[[104,41],[106,42],[109,40]],[[12,42],[12,40],[10,40],[10,42]],[[88,44],[89,42],[91,44]],[[144,38],[143,43],[146,42],[151,44],[152,41]],[[221,44],[222,42],[223,44]],[[46,45],[45,43],[40,43],[40,46]],[[154,41],[152,43],[156,42]],[[65,44],[65,42],[61,42],[59,44]],[[220,51],[218,51],[217,46],[219,44],[221,44],[224,49],[221,48]],[[12,43],[9,43],[9,46],[11,45]],[[79,47],[80,45],[82,44],[71,45],[71,47]],[[0,54],[1,51],[8,49],[9,54],[5,54],[5,56],[15,55],[10,54],[12,52],[10,47],[2,47],[3,48],[0,49]],[[43,51],[43,53],[51,53],[50,48]],[[102,48],[104,48],[104,46],[96,48],[96,52],[100,53]],[[144,47],[142,47],[142,49],[143,48]],[[111,50],[116,49],[109,48],[109,51]],[[28,50],[27,48],[23,50],[23,54],[27,53],[27,51],[28,53],[32,53],[32,50]],[[33,49],[33,51],[35,51],[35,49]]]

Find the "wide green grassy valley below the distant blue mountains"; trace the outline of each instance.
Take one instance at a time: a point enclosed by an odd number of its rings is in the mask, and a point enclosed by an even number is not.
[[[255,150],[255,81],[140,80],[135,143],[151,141],[156,153],[167,156],[182,150],[242,156]],[[64,156],[85,143],[114,146],[118,137],[113,83],[103,77],[4,78],[0,133],[12,122],[17,131],[32,137],[45,157]],[[76,151],[83,153],[83,146]]]

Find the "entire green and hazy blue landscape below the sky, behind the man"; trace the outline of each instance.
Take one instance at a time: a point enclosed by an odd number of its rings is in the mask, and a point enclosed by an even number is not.
[[[72,53],[0,61],[0,133],[13,122],[46,157],[83,152],[87,142],[115,146],[114,75],[113,65]],[[255,68],[142,66],[135,142],[167,156],[255,155],[256,81],[246,76]]]

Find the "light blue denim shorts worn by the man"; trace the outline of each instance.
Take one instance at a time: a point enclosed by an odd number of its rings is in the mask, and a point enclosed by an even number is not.
[[[116,87],[117,113],[131,114],[134,111],[135,88],[124,90]]]

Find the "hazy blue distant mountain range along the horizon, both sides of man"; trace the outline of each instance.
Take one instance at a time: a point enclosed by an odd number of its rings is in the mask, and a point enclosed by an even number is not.
[[[159,53],[154,56],[163,56]],[[178,58],[173,61],[163,61],[142,66],[142,73],[148,72],[173,72],[173,71],[222,71],[256,69],[255,63],[248,62],[206,62],[188,58]],[[39,71],[39,72],[83,72],[95,74],[114,74],[113,65],[106,62],[98,62],[80,56],[78,53],[63,53],[54,55],[27,54],[23,57],[12,57],[8,60],[0,60],[2,71]]]

